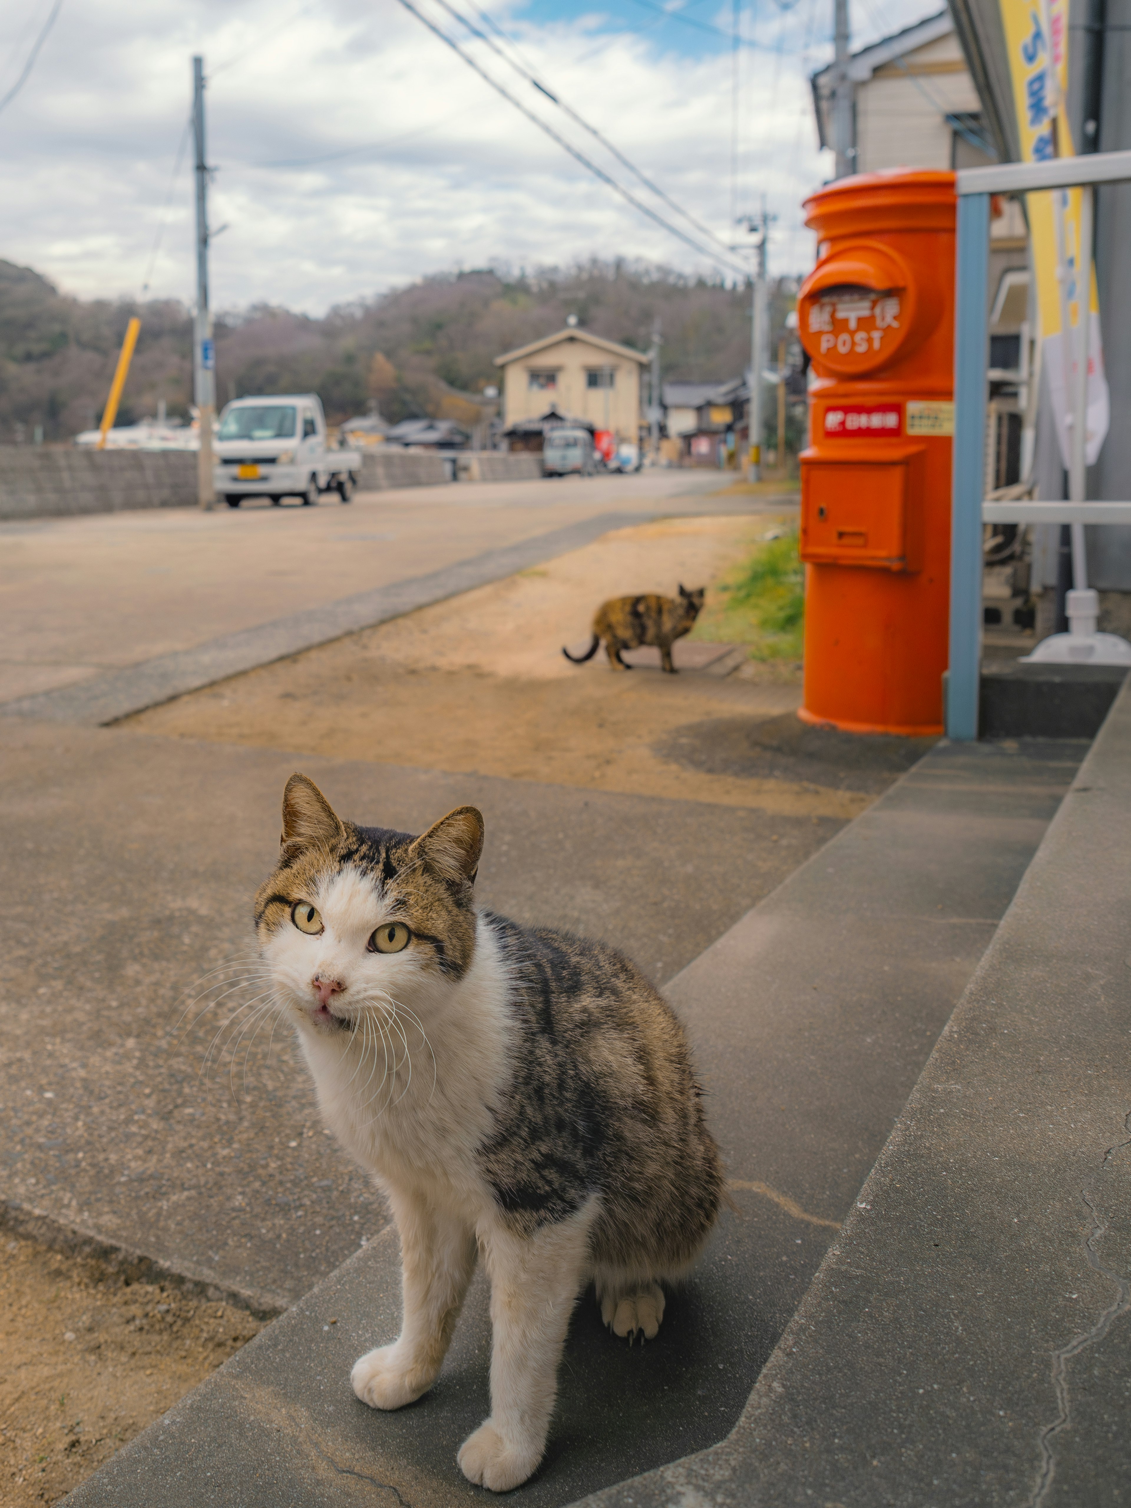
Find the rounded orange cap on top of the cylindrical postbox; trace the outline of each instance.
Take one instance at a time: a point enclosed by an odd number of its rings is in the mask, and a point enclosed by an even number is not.
[[[822,240],[884,231],[955,229],[955,173],[890,167],[838,178],[805,199],[805,225]]]

